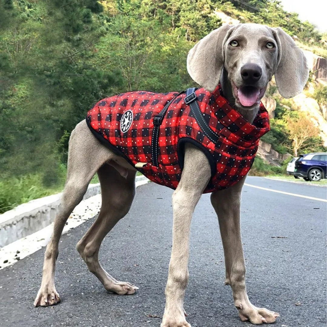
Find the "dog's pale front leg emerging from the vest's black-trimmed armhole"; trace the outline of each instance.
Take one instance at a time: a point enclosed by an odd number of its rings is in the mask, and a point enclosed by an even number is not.
[[[191,327],[184,314],[184,294],[188,282],[189,235],[194,208],[210,179],[205,155],[187,146],[181,181],[173,193],[173,247],[166,285],[166,306],[161,327]]]

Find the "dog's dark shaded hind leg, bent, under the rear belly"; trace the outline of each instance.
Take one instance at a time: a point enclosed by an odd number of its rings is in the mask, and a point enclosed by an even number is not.
[[[93,225],[77,243],[76,249],[89,270],[100,280],[105,289],[119,295],[134,294],[136,286],[119,282],[100,265],[98,254],[103,238],[129,211],[135,195],[135,171],[126,170],[126,178],[117,168],[105,164],[98,170],[101,184],[102,206]]]

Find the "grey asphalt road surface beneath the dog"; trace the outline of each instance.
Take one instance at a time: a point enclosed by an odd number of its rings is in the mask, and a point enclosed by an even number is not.
[[[246,182],[326,199],[325,187],[259,177]],[[75,244],[90,219],[61,238],[60,304],[33,307],[44,249],[0,271],[0,326],[159,327],[171,250],[171,195],[172,190],[153,183],[140,186],[129,214],[103,242],[103,267],[139,286],[136,294],[107,293],[79,258]],[[326,202],[244,186],[241,211],[252,303],[279,312],[276,327],[325,327]],[[224,285],[223,250],[209,195],[202,196],[193,217],[189,271],[185,310],[192,327],[251,325],[239,320],[231,289]]]

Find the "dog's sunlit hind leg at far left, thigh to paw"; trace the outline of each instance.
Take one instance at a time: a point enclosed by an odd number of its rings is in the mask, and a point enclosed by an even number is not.
[[[48,306],[60,302],[54,275],[62,229],[75,206],[82,200],[95,172],[114,156],[95,139],[85,121],[77,124],[69,140],[67,180],[51,240],[44,253],[42,283],[34,301],[35,306]]]

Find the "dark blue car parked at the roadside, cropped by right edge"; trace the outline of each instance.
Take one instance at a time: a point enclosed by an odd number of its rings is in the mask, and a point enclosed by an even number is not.
[[[301,154],[295,161],[294,176],[303,177],[305,181],[320,181],[327,176],[327,154],[316,152]]]

